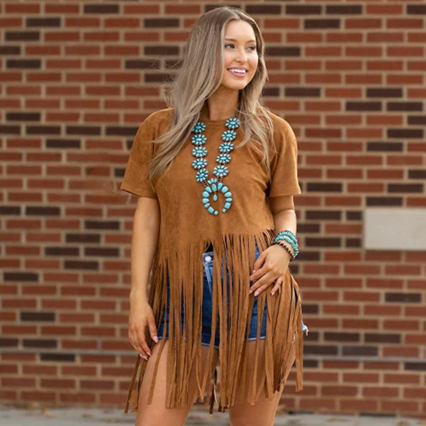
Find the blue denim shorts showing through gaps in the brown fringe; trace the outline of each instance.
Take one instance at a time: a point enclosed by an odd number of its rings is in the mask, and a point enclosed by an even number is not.
[[[255,248],[257,259],[259,257],[259,248]],[[209,346],[210,345],[210,339],[211,339],[211,320],[213,316],[213,251],[207,251],[202,254],[202,262],[204,266],[204,275],[203,275],[203,300],[202,300],[202,308],[201,308],[201,345]],[[251,271],[250,271],[251,273]],[[228,300],[228,308],[229,308],[229,272],[228,268],[226,268],[226,276],[227,276],[227,300]],[[223,284],[223,260],[221,264],[221,277],[222,277],[222,284]],[[253,282],[250,281],[250,286],[253,284]],[[273,285],[271,285],[272,289]],[[271,291],[271,289],[269,291]],[[266,291],[266,290],[264,290]],[[296,296],[296,292],[294,293]],[[250,332],[248,335],[248,340],[256,340],[257,337],[257,299],[258,296],[254,296],[254,304],[253,304],[253,310],[250,320]],[[297,304],[297,296],[295,299],[295,304]],[[169,305],[170,305],[170,286],[169,286],[169,277],[167,275],[167,305],[166,305],[166,314],[167,314],[167,322],[169,320]],[[267,306],[268,302],[265,300],[265,309],[263,310],[263,318],[262,318],[262,326],[260,330],[260,339],[265,339],[266,336],[266,316],[267,316]],[[217,325],[216,325],[216,335],[214,340],[214,347],[216,349],[219,349],[219,314],[217,318]],[[181,324],[183,327],[184,324],[184,311],[183,307],[181,310]],[[160,325],[158,327],[157,337],[158,339],[161,339],[163,336],[163,330],[164,330],[164,311],[163,315],[160,320]],[[168,327],[166,329],[166,339],[168,339]],[[246,339],[245,339],[246,340]]]

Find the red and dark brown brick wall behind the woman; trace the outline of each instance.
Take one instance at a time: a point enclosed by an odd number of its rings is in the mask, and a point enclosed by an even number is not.
[[[0,400],[124,406],[132,138],[210,3],[0,2]],[[212,2],[214,3],[214,2]],[[235,2],[234,2],[235,3]],[[363,249],[363,210],[425,207],[426,4],[236,2],[299,142],[305,389],[295,411],[426,412],[424,252]]]

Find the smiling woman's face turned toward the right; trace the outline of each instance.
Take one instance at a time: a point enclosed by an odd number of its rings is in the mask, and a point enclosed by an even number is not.
[[[254,77],[259,62],[256,37],[248,22],[232,20],[227,23],[224,49],[225,70],[222,86],[228,89],[244,89]],[[245,72],[237,74],[230,69],[242,69]]]

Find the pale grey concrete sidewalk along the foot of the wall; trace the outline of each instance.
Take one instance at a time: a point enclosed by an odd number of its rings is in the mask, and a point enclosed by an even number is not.
[[[135,424],[136,413],[125,414],[122,409],[62,408],[16,409],[0,404],[1,426],[129,426]],[[277,414],[276,426],[420,426],[426,420],[402,417],[359,417],[339,414]],[[196,407],[190,412],[186,425],[229,425],[228,412],[209,414]],[[262,426],[262,425],[259,425]]]

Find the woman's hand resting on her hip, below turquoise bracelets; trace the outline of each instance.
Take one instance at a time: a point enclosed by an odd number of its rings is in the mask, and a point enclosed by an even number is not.
[[[258,296],[275,282],[271,291],[273,295],[282,283],[282,276],[287,271],[290,259],[288,251],[279,244],[273,244],[263,250],[253,265],[254,271],[250,275],[250,279],[254,281],[254,284],[251,285],[249,294],[256,290],[254,295]]]

